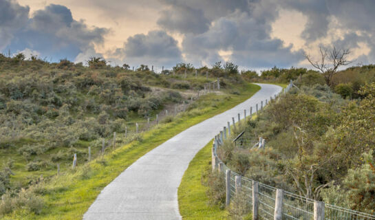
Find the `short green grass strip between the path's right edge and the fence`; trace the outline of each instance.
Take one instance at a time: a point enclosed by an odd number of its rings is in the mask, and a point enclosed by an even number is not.
[[[208,206],[207,189],[201,184],[202,173],[207,166],[211,166],[211,143],[212,141],[195,155],[178,188],[178,204],[184,220],[226,219],[226,210]]]

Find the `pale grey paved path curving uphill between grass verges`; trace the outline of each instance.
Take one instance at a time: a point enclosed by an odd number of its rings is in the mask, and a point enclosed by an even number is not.
[[[177,190],[191,159],[232,117],[237,121],[237,113],[243,118],[244,109],[255,109],[255,104],[281,91],[276,85],[258,85],[261,89],[245,102],[191,126],[140,157],[100,192],[83,219],[182,219]]]

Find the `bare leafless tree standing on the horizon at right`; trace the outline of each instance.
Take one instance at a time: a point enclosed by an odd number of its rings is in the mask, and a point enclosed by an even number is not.
[[[318,69],[323,74],[325,83],[332,86],[332,77],[336,74],[337,69],[341,66],[349,65],[352,61],[347,61],[347,56],[350,54],[348,49],[339,49],[333,47],[332,50],[328,50],[325,47],[319,47],[321,54],[320,61],[313,61],[310,54],[305,54],[306,59],[311,65]]]

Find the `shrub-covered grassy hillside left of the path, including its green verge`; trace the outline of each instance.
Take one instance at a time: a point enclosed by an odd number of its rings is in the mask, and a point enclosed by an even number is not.
[[[79,219],[100,190],[144,153],[259,89],[231,69],[179,64],[156,74],[144,65],[132,71],[100,59],[88,64],[0,55],[4,219]],[[222,89],[202,96],[204,84],[217,78]],[[74,153],[78,167],[72,170]]]

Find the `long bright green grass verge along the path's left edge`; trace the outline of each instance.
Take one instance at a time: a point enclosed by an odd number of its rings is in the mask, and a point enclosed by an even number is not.
[[[190,126],[244,102],[259,89],[257,85],[246,84],[239,88],[239,95],[201,96],[196,104],[204,108],[181,113],[173,122],[147,131],[139,140],[117,148],[102,159],[85,165],[78,162],[81,166],[76,170],[67,170],[47,181],[43,192],[46,207],[41,214],[15,210],[3,219],[81,219],[100,191],[142,155]]]

